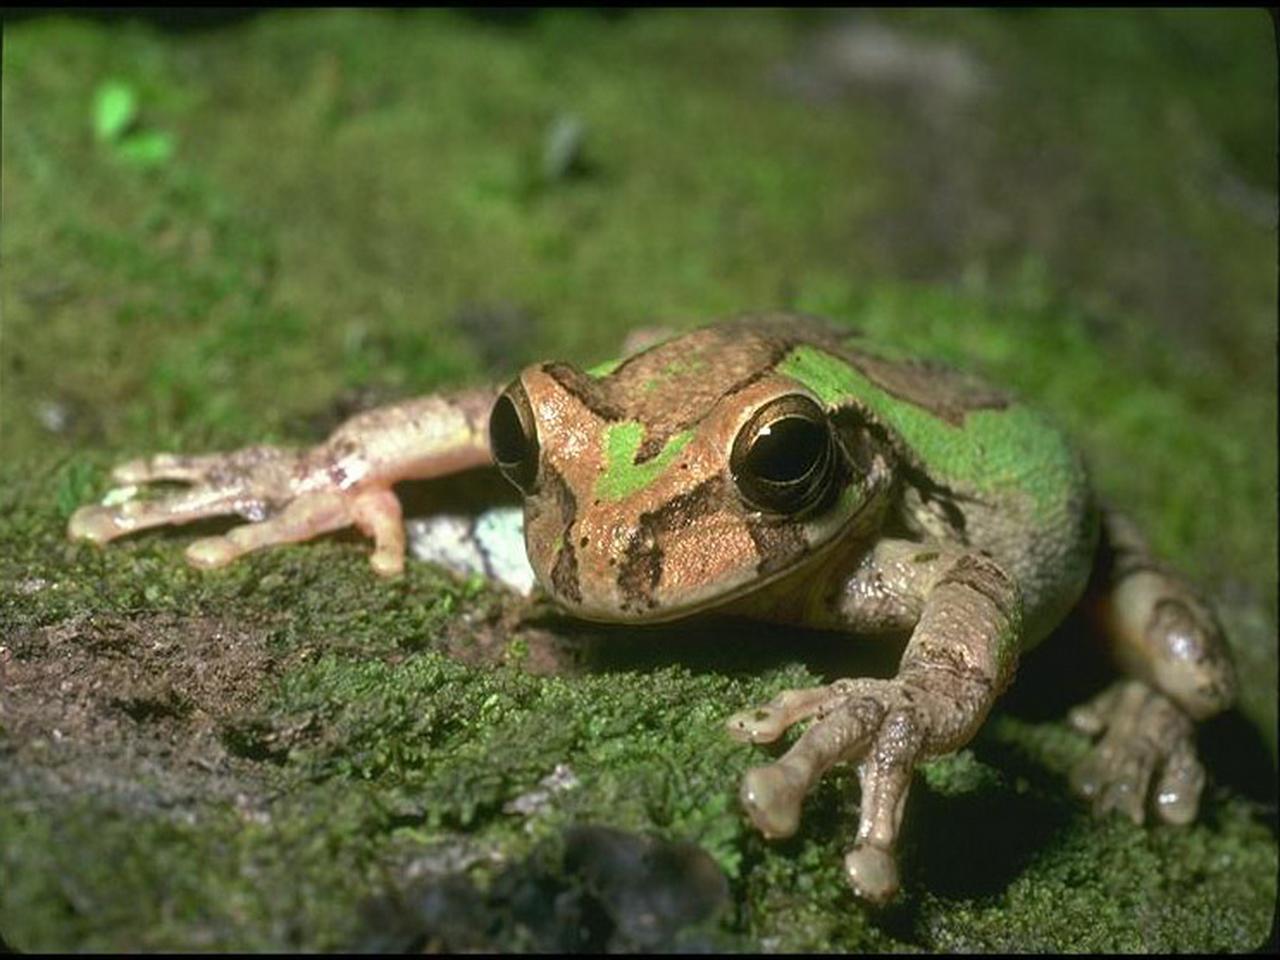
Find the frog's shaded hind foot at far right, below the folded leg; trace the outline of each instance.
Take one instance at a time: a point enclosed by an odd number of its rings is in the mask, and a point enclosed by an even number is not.
[[[1120,810],[1142,823],[1149,808],[1165,823],[1196,819],[1204,768],[1192,719],[1142,681],[1120,681],[1069,714],[1098,744],[1071,771],[1073,788],[1098,815]],[[1155,782],[1155,790],[1152,783]]]

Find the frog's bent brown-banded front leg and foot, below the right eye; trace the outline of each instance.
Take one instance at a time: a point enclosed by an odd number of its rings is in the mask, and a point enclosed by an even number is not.
[[[844,607],[849,628],[911,630],[897,676],[788,690],[732,717],[730,731],[765,742],[815,718],[781,759],[742,781],[742,804],[768,837],[795,832],[805,795],[827,769],[858,763],[861,810],[845,869],[860,896],[884,902],[899,887],[893,846],[915,764],[968,742],[1011,680],[1021,598],[986,556],[886,540],[863,559]]]

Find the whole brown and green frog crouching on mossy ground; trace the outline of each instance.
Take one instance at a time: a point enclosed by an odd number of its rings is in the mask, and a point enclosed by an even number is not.
[[[1074,708],[1092,746],[1070,786],[1096,814],[1190,823],[1206,782],[1196,724],[1236,678],[1203,594],[1091,489],[1064,431],[1012,393],[801,314],[744,314],[654,335],[620,360],[525,367],[503,387],[355,415],[319,445],[157,453],[70,517],[73,540],[238,515],[187,561],[355,526],[383,577],[404,570],[396,484],[493,467],[522,498],[544,599],[613,625],[709,612],[902,644],[892,677],[781,690],[726,719],[744,745],[794,742],[750,767],[744,815],[794,836],[836,764],[856,769],[844,855],[872,905],[901,886],[914,772],[969,744],[1019,659],[1078,604],[1120,676]],[[186,484],[141,498],[140,488]]]

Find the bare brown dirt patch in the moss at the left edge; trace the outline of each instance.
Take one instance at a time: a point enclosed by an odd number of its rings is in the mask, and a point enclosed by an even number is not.
[[[128,808],[255,809],[268,771],[229,732],[278,663],[261,628],[177,614],[82,614],[0,646],[0,792],[101,795]]]

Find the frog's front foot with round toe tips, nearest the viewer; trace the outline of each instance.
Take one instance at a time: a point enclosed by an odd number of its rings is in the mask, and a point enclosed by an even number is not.
[[[767,837],[791,836],[800,805],[822,774],[841,760],[859,762],[861,812],[845,873],[859,896],[888,901],[899,888],[893,845],[911,771],[936,712],[932,699],[897,680],[841,680],[783,691],[762,708],[731,717],[730,735],[748,742],[776,740],[792,723],[817,718],[781,759],[748,771],[741,800],[751,822]]]

